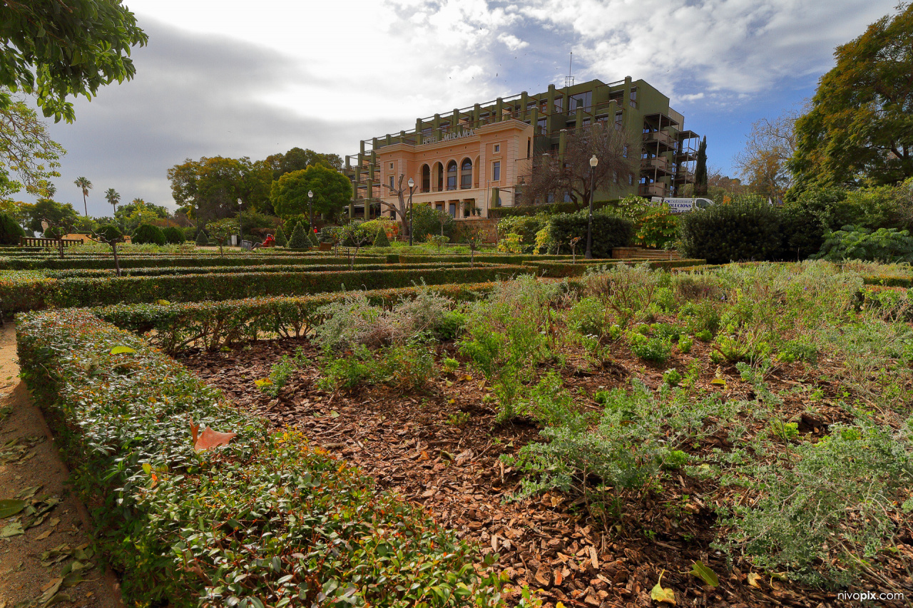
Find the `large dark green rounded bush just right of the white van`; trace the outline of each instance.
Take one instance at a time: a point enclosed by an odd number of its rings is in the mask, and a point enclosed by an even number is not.
[[[782,254],[780,215],[767,201],[742,198],[684,214],[679,251],[708,264],[771,260]]]

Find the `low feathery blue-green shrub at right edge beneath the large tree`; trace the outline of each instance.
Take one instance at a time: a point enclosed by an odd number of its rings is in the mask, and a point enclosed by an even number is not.
[[[892,264],[913,261],[913,236],[907,230],[868,228],[846,225],[842,230],[828,233],[821,251],[813,256],[829,262],[861,259]]]

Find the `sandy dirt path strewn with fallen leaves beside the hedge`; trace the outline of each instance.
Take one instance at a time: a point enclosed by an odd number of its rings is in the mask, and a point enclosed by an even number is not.
[[[96,565],[67,467],[18,374],[9,322],[0,330],[0,501],[29,505],[0,519],[0,608],[117,608],[119,594]]]

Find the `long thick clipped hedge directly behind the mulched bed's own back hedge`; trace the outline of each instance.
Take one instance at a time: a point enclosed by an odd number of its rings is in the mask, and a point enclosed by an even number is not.
[[[16,273],[0,278],[0,309],[4,314],[47,308],[139,304],[168,300],[196,302],[263,296],[305,296],[341,289],[409,287],[478,283],[522,272],[518,266],[345,270],[341,272],[239,272],[121,278],[44,278]]]

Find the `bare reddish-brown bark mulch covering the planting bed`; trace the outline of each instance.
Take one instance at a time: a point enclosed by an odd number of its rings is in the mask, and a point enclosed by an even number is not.
[[[278,397],[262,393],[255,381],[267,377],[281,355],[293,356],[299,348],[310,361],[319,358],[309,341],[290,339],[242,344],[231,351],[189,351],[182,361],[245,411],[267,417],[277,429],[298,428],[313,445],[359,466],[376,480],[379,490],[393,491],[423,506],[444,528],[476,544],[483,553],[497,552],[497,567],[514,590],[529,585],[537,590],[543,608],[555,608],[558,603],[569,608],[671,605],[657,604],[650,596],[661,574],[662,587],[675,592],[679,606],[856,605],[839,601],[834,592],[803,588],[753,571],[738,556],[730,563],[714,550],[711,542],[719,524],[710,502],[714,488],[708,483],[712,481],[675,476],[677,483],[662,494],[625,501],[621,507],[625,517],[609,518],[608,525],[593,518],[599,506],[586,508],[582,498],[552,491],[511,499],[520,487],[521,474],[500,456],[515,455],[521,446],[539,441],[540,429],[524,420],[496,424],[493,406],[483,401],[489,394],[487,387],[465,365],[432,380],[421,392],[403,393],[376,384],[324,393],[315,386],[317,367],[307,364]],[[700,351],[706,346],[695,348]],[[453,344],[440,347],[437,358],[445,356],[456,357]],[[668,366],[676,364],[681,366],[681,362]],[[719,370],[709,364],[707,368],[701,382],[713,389],[711,381]],[[573,392],[590,395],[624,385],[633,374],[654,388],[662,379],[662,369],[644,366],[634,357],[615,359],[598,372],[581,374],[573,369],[569,362],[562,372],[564,382]],[[734,368],[724,368],[722,373],[731,398],[753,398],[751,387],[740,383]],[[771,378],[775,388],[803,379],[801,368],[780,373],[780,378]],[[825,393],[834,387],[825,386]],[[786,407],[799,413],[805,405],[796,402]],[[841,415],[836,408],[820,408],[818,417],[803,416],[803,432],[826,433],[827,424]],[[710,436],[699,449],[725,449],[726,443],[725,435]],[[901,544],[904,551],[910,549]],[[719,586],[704,584],[690,573],[696,561],[719,575]],[[901,564],[881,565],[886,576],[910,590],[910,597],[913,579]],[[512,598],[519,599],[516,591]]]

